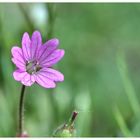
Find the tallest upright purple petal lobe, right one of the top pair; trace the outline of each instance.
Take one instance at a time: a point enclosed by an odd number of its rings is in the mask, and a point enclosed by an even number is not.
[[[36,58],[38,55],[38,51],[42,45],[42,37],[39,31],[33,32],[32,38],[31,38],[31,56],[32,59]]]

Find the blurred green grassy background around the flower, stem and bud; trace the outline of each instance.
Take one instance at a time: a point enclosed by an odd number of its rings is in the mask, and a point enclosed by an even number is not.
[[[50,137],[73,110],[77,137],[140,136],[140,4],[0,4],[0,136],[16,135],[21,84],[11,48],[24,32],[57,37],[65,57],[55,89],[26,89],[25,128]]]

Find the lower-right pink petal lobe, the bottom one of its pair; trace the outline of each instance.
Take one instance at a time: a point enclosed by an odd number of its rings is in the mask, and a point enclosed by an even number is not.
[[[35,81],[44,88],[55,88],[56,84],[49,78],[41,75],[39,72],[33,75]]]

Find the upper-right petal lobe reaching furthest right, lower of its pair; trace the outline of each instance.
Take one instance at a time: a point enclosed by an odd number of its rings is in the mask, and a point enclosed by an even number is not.
[[[51,67],[52,65],[60,61],[64,56],[64,54],[65,54],[64,50],[57,49],[53,51],[53,53],[51,53],[45,60],[40,61],[40,65],[42,67]]]

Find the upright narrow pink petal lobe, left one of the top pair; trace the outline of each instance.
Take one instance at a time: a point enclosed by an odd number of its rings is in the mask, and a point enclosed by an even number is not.
[[[24,58],[27,61],[31,59],[30,45],[31,45],[31,40],[29,34],[25,32],[22,37],[22,50],[23,50]]]

